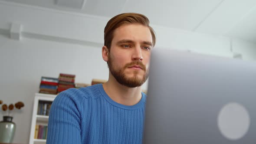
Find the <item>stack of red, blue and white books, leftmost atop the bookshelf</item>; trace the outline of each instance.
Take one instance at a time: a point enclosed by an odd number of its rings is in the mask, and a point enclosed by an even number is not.
[[[45,94],[57,94],[58,83],[59,83],[58,78],[50,78],[50,77],[42,76],[39,92],[45,93]]]

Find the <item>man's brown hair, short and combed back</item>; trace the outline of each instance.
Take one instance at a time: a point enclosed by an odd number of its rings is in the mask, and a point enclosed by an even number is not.
[[[151,32],[153,46],[156,42],[154,29],[149,26],[149,20],[146,16],[140,13],[121,13],[110,19],[104,29],[104,45],[108,49],[111,47],[114,30],[124,24],[141,24],[147,26]]]

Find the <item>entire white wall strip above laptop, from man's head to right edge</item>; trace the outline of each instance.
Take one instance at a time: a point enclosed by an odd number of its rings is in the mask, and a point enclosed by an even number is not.
[[[195,33],[181,29],[152,26],[157,33],[156,47],[181,49],[213,56],[233,58],[241,54],[243,60],[256,60],[256,43],[227,36]]]

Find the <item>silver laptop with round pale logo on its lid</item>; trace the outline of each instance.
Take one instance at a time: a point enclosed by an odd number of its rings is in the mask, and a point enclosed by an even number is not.
[[[256,144],[256,62],[154,48],[144,144]]]

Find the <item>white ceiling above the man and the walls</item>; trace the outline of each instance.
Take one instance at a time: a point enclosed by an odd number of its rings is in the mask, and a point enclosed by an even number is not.
[[[0,0],[111,18],[136,12],[151,24],[256,43],[256,0]]]

